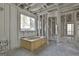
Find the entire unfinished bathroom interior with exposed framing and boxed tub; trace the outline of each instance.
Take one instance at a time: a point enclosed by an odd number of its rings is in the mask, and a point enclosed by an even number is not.
[[[79,56],[79,4],[0,3],[0,56]]]

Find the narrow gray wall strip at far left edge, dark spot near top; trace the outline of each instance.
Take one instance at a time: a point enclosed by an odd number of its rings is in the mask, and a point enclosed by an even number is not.
[[[2,8],[2,10],[1,10]],[[5,39],[4,37],[4,4],[0,4],[0,40]]]

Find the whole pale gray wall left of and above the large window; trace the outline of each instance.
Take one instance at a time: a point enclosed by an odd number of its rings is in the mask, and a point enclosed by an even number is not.
[[[35,17],[33,14],[22,11],[13,5],[0,3],[0,40],[8,40],[9,49],[20,47],[19,37],[21,36],[19,35],[20,29],[18,26],[18,22],[20,21],[18,13],[20,12]]]

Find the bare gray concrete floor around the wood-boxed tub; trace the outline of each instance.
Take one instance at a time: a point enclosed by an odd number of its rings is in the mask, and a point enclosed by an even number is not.
[[[18,48],[8,52],[7,56],[79,56],[79,50],[71,48],[64,43],[50,41],[50,44],[42,47],[34,53]]]

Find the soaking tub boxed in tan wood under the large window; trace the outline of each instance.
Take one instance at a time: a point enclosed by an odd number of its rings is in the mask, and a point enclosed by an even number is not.
[[[46,45],[48,40],[45,37],[22,37],[21,47],[30,51],[35,51]]]

